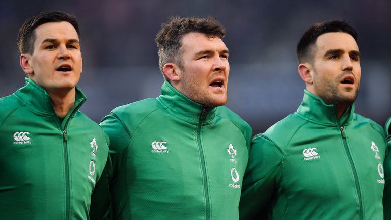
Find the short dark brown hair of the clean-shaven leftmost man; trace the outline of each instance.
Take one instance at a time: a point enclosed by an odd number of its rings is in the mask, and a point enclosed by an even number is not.
[[[66,21],[72,24],[73,28],[75,28],[77,32],[77,35],[80,36],[79,24],[76,16],[60,11],[41,12],[38,15],[27,19],[20,28],[18,34],[18,47],[20,53],[33,53],[34,41],[36,38],[35,29],[38,28],[38,26],[44,23],[61,21]]]

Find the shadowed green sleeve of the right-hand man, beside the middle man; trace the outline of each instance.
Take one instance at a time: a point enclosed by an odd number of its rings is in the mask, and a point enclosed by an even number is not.
[[[240,219],[263,219],[281,175],[283,153],[274,142],[258,134],[250,149],[239,204]]]

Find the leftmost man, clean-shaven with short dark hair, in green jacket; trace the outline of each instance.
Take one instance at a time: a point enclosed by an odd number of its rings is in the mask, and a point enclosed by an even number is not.
[[[108,158],[108,137],[78,111],[86,96],[79,28],[42,12],[18,35],[26,85],[0,98],[0,218],[88,219]]]

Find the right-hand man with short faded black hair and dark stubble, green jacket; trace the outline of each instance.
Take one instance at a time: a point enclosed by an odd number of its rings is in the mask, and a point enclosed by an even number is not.
[[[241,219],[383,219],[384,132],[354,113],[361,79],[357,32],[316,23],[297,46],[304,98],[254,137]]]

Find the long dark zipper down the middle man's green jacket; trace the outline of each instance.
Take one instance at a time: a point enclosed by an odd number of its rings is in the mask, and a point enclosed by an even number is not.
[[[204,158],[204,151],[201,146],[201,126],[202,122],[205,119],[207,109],[206,107],[203,107],[200,119],[198,121],[198,127],[197,127],[197,142],[198,142],[198,148],[200,150],[200,157],[201,157],[201,167],[202,167],[202,173],[204,176],[204,191],[205,191],[205,215],[206,219],[209,219],[209,193],[208,193],[208,181],[206,176],[206,168],[205,168],[205,158]]]

